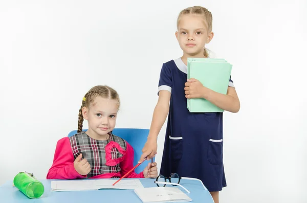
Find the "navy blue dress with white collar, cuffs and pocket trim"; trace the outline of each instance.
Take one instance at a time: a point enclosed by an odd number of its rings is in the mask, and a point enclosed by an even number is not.
[[[187,66],[181,58],[163,63],[159,91],[169,91],[171,98],[160,174],[198,178],[210,192],[221,191],[226,187],[223,113],[190,113],[186,81]],[[229,86],[233,86],[231,78]]]

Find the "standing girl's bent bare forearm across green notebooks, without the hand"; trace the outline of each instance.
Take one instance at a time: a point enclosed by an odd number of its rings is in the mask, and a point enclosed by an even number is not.
[[[204,87],[203,98],[210,101],[215,106],[230,112],[238,112],[240,101],[234,87],[228,87],[227,94],[221,94]]]

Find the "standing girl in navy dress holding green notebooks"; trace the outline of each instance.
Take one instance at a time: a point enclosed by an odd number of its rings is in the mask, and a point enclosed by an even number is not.
[[[217,203],[218,191],[226,187],[223,113],[190,113],[187,99],[204,98],[230,112],[238,112],[240,103],[231,78],[227,95],[206,88],[196,79],[187,80],[187,58],[208,57],[205,44],[213,38],[211,12],[199,6],[184,9],[177,28],[183,56],[162,66],[159,99],[140,161],[157,153],[157,137],[168,115],[160,174],[166,177],[176,172],[201,179]]]

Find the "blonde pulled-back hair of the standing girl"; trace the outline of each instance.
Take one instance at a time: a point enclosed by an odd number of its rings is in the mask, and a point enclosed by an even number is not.
[[[179,15],[178,15],[178,18],[177,18],[177,29],[178,29],[178,26],[179,26],[179,22],[180,22],[180,17],[182,15],[186,15],[186,14],[198,14],[198,15],[203,15],[204,16],[204,19],[206,20],[207,22],[207,26],[208,26],[208,32],[211,32],[212,31],[212,14],[210,11],[208,11],[208,9],[204,8],[204,7],[201,7],[201,6],[193,6],[193,7],[189,7],[189,8],[186,8],[186,9],[183,9]],[[209,56],[209,53],[206,51],[206,49],[204,50],[204,55],[206,57]]]

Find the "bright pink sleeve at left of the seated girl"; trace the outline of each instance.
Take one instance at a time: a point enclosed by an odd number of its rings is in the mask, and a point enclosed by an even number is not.
[[[76,179],[84,178],[74,167],[74,155],[69,138],[62,138],[57,142],[53,164],[47,173],[47,179]]]

